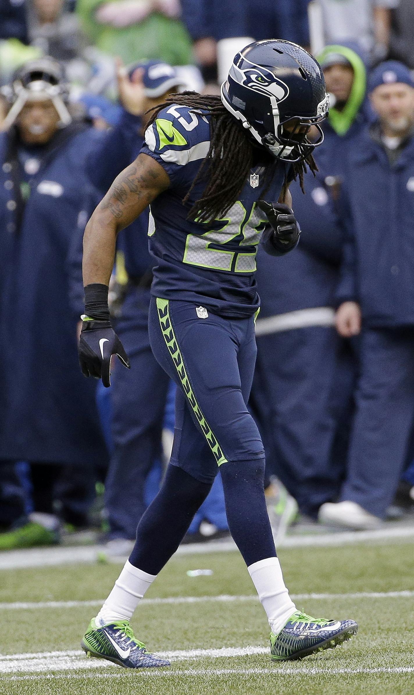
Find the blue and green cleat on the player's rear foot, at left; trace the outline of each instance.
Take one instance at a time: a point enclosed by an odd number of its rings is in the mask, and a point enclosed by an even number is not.
[[[135,638],[127,620],[98,627],[94,619],[83,635],[81,647],[88,657],[112,661],[125,669],[154,669],[170,666],[167,659],[147,652]]]

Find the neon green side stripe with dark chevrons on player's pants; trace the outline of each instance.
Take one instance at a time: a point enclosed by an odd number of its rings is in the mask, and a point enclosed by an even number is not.
[[[176,367],[177,373],[180,377],[181,385],[183,386],[183,391],[188,398],[188,402],[192,407],[192,411],[199,421],[201,431],[206,437],[208,446],[210,447],[215,460],[217,461],[217,466],[227,463],[227,459],[224,456],[216,437],[214,436],[210,425],[199,408],[199,404],[195,399],[194,392],[192,391],[190,380],[188,379],[187,372],[185,371],[185,366],[183,362],[183,357],[180,352],[179,343],[176,341],[174,334],[174,329],[172,327],[172,322],[169,318],[169,302],[168,300],[162,300],[157,297],[157,311],[158,318],[160,320],[161,331],[163,332],[165,344],[167,345],[168,352],[172,357],[172,361]]]

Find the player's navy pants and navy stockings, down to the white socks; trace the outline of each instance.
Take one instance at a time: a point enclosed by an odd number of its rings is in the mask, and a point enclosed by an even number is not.
[[[263,444],[247,409],[256,358],[254,319],[199,318],[190,302],[153,298],[149,338],[156,359],[179,386],[176,429],[165,480],[138,524],[131,564],[149,574],[160,571],[219,466],[229,530],[247,566],[274,557]]]

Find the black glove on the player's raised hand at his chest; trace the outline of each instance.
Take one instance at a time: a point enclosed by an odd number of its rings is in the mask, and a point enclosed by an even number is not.
[[[282,256],[292,251],[301,233],[292,208],[283,203],[267,203],[264,200],[259,200],[257,206],[266,214],[271,225],[271,229],[265,229],[262,236],[261,243],[265,251],[273,256]]]

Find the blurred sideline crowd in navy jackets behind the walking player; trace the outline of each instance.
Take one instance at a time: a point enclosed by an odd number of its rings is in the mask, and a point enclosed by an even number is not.
[[[0,0],[0,550],[83,532],[128,553],[174,386],[149,347],[147,212],[119,235],[110,286],[131,372],[115,363],[110,389],[81,375],[83,229],[147,109],[219,94],[267,38],[310,49],[331,95],[319,171],[306,195],[291,186],[301,243],[258,251],[250,407],[270,518],[279,538],[413,518],[413,35],[412,0]],[[226,534],[218,476],[185,542]]]

